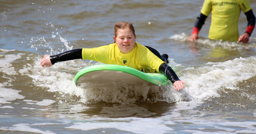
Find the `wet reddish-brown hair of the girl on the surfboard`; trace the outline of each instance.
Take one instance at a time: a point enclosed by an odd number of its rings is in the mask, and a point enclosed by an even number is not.
[[[132,23],[129,23],[129,22],[125,22],[125,21],[122,21],[122,22],[117,22],[115,27],[114,27],[114,33],[115,33],[115,37],[117,36],[117,32],[119,29],[125,29],[125,28],[128,28],[132,33],[133,35],[136,37],[135,35],[135,29],[134,27],[132,26]]]

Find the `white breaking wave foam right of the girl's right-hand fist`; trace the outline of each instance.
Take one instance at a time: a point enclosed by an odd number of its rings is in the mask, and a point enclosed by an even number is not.
[[[255,63],[249,63],[255,57],[237,58],[222,63],[211,63],[198,68],[187,68],[187,73],[181,79],[186,81],[188,90],[183,90],[195,100],[206,100],[210,97],[219,97],[218,91],[224,89],[237,89],[237,83],[254,77],[256,73],[252,68],[256,67]],[[200,75],[195,75],[193,71],[197,70]]]

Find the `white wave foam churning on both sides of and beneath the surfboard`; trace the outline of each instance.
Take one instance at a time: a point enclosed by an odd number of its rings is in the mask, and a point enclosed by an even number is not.
[[[167,103],[176,102],[179,104],[179,107],[176,107],[177,110],[182,110],[184,107],[185,109],[193,109],[204,100],[219,97],[219,91],[224,91],[225,89],[237,90],[237,83],[255,75],[251,69],[255,68],[255,63],[248,62],[253,61],[253,58],[237,58],[219,63],[209,62],[195,67],[180,69],[178,71],[182,71],[183,73],[177,73],[181,74],[180,79],[186,81],[185,88],[180,91],[174,91],[172,85],[154,90],[132,90],[129,88],[122,90],[112,88],[91,90],[77,88],[74,83],[75,74],[79,71],[77,64],[82,64],[84,67],[92,65],[81,60],[60,62],[52,67],[43,68],[38,63],[34,67],[28,67],[28,69],[34,72],[33,75],[29,76],[33,78],[36,85],[46,87],[48,91],[59,92],[61,94],[61,96],[56,97],[60,100],[59,103],[62,103],[63,100],[73,101],[67,100],[73,95],[80,98],[80,101],[83,103],[105,101],[120,104],[141,101],[140,96],[142,96],[142,101],[151,103],[156,101],[165,101]],[[80,65],[78,66],[80,69],[83,68]],[[183,66],[180,65],[179,67],[182,68]],[[153,94],[154,98],[148,98],[150,94]],[[183,105],[184,107],[182,107]],[[177,114],[177,116],[179,115]]]

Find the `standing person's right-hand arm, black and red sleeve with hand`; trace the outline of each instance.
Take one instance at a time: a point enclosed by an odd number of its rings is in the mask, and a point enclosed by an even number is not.
[[[248,12],[245,12],[244,14],[246,15],[248,24],[247,24],[246,31],[244,32],[243,35],[239,37],[238,42],[248,43],[249,37],[251,36],[252,31],[255,27],[255,16],[252,12],[252,9],[249,10]]]

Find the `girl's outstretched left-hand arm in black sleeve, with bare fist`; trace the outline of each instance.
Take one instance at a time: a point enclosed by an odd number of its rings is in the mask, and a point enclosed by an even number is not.
[[[83,49],[74,49],[66,51],[57,55],[44,55],[44,58],[41,59],[41,66],[51,67],[56,62],[73,60],[73,59],[82,59],[82,50]]]

